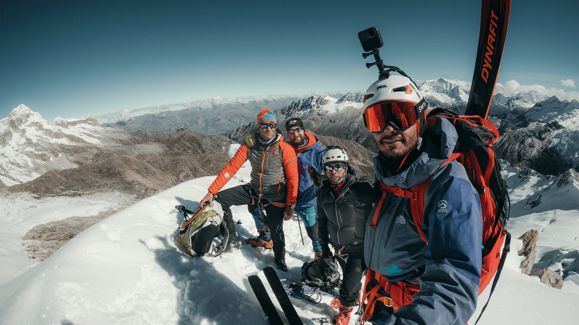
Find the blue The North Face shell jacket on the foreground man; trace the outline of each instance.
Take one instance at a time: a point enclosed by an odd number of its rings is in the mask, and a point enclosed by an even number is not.
[[[420,276],[421,288],[411,304],[393,314],[377,306],[372,324],[464,325],[475,311],[482,264],[481,202],[463,165],[453,160],[439,167],[450,157],[456,141],[453,125],[439,118],[423,136],[424,151],[405,171],[393,175],[383,168],[383,158],[373,158],[376,179],[386,185],[409,189],[432,178],[422,224],[428,245],[412,219],[409,199],[390,192],[384,197],[376,227],[367,228],[368,267],[391,282]]]

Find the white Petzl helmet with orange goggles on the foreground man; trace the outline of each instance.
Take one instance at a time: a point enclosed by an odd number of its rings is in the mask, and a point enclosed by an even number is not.
[[[424,132],[428,102],[409,77],[392,75],[373,83],[364,96],[364,125],[370,132],[382,132],[386,125],[404,131],[417,125]]]

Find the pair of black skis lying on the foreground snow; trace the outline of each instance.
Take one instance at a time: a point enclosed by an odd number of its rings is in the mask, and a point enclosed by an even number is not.
[[[263,268],[263,273],[265,274],[267,282],[269,282],[269,285],[272,287],[273,293],[276,295],[277,301],[280,303],[281,309],[284,311],[285,317],[287,317],[290,325],[303,325],[298,312],[295,311],[294,305],[290,301],[290,297],[288,297],[283,285],[281,285],[276,270],[272,267],[266,267]],[[257,297],[259,305],[261,305],[263,312],[267,315],[269,323],[272,325],[284,325],[280,314],[277,313],[276,307],[273,305],[272,299],[269,297],[269,294],[267,294],[265,286],[263,286],[263,282],[261,282],[259,276],[250,275],[247,279],[250,282],[251,289],[255,293],[255,297]]]

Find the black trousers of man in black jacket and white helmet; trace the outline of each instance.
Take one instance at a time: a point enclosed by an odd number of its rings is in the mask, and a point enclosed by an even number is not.
[[[334,246],[336,251],[340,248],[341,247]],[[366,269],[364,249],[362,248],[352,252],[347,252],[346,261],[339,257],[336,258],[336,260],[338,260],[340,267],[342,267],[343,274],[342,285],[340,285],[339,293],[340,304],[345,307],[351,307],[356,305],[356,301],[360,296],[362,276],[364,276],[364,271]]]

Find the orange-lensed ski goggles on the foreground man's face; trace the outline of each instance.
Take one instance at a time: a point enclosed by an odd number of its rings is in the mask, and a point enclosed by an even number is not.
[[[364,125],[368,131],[380,133],[384,131],[386,125],[390,125],[395,130],[404,131],[419,123],[424,118],[426,110],[426,99],[418,104],[408,101],[388,101],[364,109]]]

